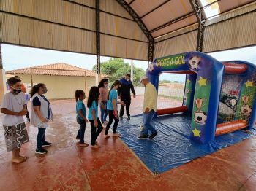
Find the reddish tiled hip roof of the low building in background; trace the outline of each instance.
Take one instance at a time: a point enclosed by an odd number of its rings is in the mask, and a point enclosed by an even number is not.
[[[6,74],[41,74],[50,76],[69,76],[69,77],[96,77],[96,73],[91,70],[72,66],[67,63],[53,63],[42,66],[35,66],[33,68],[17,69],[12,71],[6,71]],[[101,77],[109,77],[106,74],[102,74]]]

